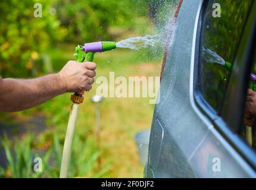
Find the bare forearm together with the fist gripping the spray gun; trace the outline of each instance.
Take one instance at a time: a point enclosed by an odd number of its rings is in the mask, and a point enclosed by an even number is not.
[[[66,92],[92,88],[96,64],[68,61],[58,74],[28,80],[0,76],[0,112],[15,112],[39,105]]]

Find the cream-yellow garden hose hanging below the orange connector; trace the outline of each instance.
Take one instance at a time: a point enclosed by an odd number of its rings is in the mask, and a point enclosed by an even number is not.
[[[71,106],[70,115],[68,118],[67,132],[65,134],[63,157],[61,160],[60,178],[67,178],[78,109],[79,109],[79,104],[73,103]]]

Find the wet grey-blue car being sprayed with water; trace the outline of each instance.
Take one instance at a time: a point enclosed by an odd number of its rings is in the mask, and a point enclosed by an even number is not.
[[[256,1],[179,5],[144,176],[255,178],[256,130],[243,123],[243,111],[249,74],[256,67]],[[230,71],[226,62],[232,64]],[[254,132],[251,145],[247,129]]]

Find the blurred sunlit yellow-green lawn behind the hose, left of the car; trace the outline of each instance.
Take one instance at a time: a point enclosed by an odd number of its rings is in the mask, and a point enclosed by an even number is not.
[[[61,45],[51,49],[48,53],[52,58],[55,71],[58,71],[68,60],[74,59],[72,57],[74,46]],[[108,78],[110,71],[114,71],[115,76],[159,76],[160,60],[161,56],[153,56],[148,50],[116,49],[97,53],[94,59],[98,65],[96,77]],[[97,144],[95,107],[90,102],[90,97],[95,94],[96,86],[94,84],[92,90],[85,94],[85,102],[80,106],[77,118],[76,134],[79,134],[80,143],[73,148],[77,149],[74,157],[76,159],[80,157],[80,160],[77,160],[79,164],[71,160],[73,168],[86,165],[86,170],[90,168],[91,170],[90,172],[73,171],[71,174],[79,177],[142,178],[143,166],[139,162],[133,138],[136,132],[150,128],[154,105],[149,105],[148,98],[105,98],[101,103],[101,143]],[[49,129],[41,135],[41,141],[38,141],[37,145],[40,147],[40,145],[49,143],[51,147],[54,144],[54,133],[58,134],[60,144],[64,143],[70,106],[70,94],[67,93],[36,108],[15,113],[15,115],[32,116],[38,111],[46,115],[46,124]],[[83,139],[86,140],[86,145],[83,145]],[[84,154],[93,156],[86,157]],[[93,164],[98,162],[96,160],[101,160],[101,167],[97,169]]]

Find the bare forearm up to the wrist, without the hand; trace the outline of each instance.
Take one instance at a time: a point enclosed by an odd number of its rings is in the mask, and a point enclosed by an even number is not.
[[[0,112],[14,112],[39,105],[67,90],[60,75],[28,80],[6,78],[0,81]]]

